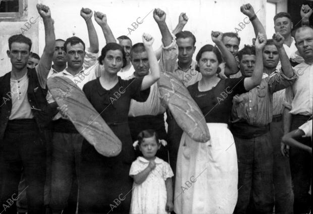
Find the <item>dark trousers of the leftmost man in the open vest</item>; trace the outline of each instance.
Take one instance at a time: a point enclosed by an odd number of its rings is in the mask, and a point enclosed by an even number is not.
[[[35,120],[9,121],[0,144],[2,161],[1,211],[16,214],[18,185],[22,169],[26,181],[28,213],[44,213],[45,143]]]

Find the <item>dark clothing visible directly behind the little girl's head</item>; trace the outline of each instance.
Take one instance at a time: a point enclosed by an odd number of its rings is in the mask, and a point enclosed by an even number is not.
[[[144,115],[138,117],[128,117],[128,125],[133,142],[137,140],[138,134],[146,129],[153,129],[156,133],[158,133],[159,139],[164,139],[167,141],[164,114],[156,116]],[[135,153],[136,156],[142,155],[138,149]],[[158,152],[156,152],[156,156],[168,162],[168,146],[161,146]]]

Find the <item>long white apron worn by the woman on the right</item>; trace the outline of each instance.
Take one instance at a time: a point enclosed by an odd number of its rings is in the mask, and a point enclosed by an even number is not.
[[[233,213],[238,196],[238,166],[234,138],[227,124],[207,123],[211,140],[182,135],[177,157],[176,213]]]

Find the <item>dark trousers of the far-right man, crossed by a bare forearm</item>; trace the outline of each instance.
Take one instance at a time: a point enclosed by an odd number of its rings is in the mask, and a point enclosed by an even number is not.
[[[293,115],[291,130],[298,129],[309,116]],[[312,147],[310,137],[298,138],[299,142]],[[290,147],[290,169],[294,193],[294,213],[308,213],[310,195],[308,190],[311,182],[311,155],[300,148]]]

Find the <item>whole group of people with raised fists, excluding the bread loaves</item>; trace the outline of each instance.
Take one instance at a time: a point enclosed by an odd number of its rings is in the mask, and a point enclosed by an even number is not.
[[[183,31],[185,13],[171,32],[166,13],[153,11],[162,34],[154,51],[151,35],[134,45],[125,35],[116,40],[107,16],[84,8],[90,47],[76,36],[56,39],[50,9],[38,4],[37,10],[45,30],[42,56],[31,52],[29,38],[11,36],[12,70],[0,77],[2,213],[76,213],[77,206],[78,213],[309,213],[313,28],[307,5],[299,27],[288,13],[276,14],[272,39],[253,7],[241,6],[253,44],[239,50],[238,34],[212,31],[214,45],[202,46],[196,61],[196,38]],[[107,42],[99,57],[92,16]],[[164,72],[198,105],[207,142],[184,132],[163,102]],[[118,155],[99,154],[77,131],[69,106],[58,106],[46,85],[56,76],[84,92],[122,142]]]

